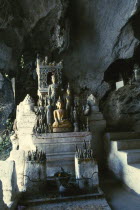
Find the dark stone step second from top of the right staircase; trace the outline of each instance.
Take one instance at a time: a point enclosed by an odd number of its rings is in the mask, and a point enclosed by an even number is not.
[[[117,141],[118,150],[140,149],[140,139],[128,139]]]

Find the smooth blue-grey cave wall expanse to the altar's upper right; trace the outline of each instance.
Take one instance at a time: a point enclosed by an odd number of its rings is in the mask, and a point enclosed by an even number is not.
[[[68,78],[98,98],[106,93],[104,71],[114,60],[132,57],[139,43],[131,23],[138,6],[136,0],[72,1],[71,45],[64,55]]]

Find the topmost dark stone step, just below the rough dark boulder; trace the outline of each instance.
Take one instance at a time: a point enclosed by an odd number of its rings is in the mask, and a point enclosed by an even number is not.
[[[109,133],[109,136],[111,141],[140,139],[140,132],[112,132]]]

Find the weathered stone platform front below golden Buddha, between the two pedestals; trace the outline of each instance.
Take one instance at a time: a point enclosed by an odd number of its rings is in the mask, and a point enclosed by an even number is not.
[[[53,176],[61,167],[66,172],[75,174],[75,146],[82,148],[84,140],[92,141],[90,132],[48,133],[33,135],[33,144],[46,152],[47,176]]]

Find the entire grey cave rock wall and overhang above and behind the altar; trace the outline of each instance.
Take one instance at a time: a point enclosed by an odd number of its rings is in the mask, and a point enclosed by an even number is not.
[[[139,5],[137,0],[2,1],[0,71],[10,79],[16,77],[16,103],[27,93],[35,96],[38,52],[48,55],[50,61],[64,60],[64,74],[75,91],[90,91],[98,100],[103,98],[111,88],[111,72],[105,78],[109,66],[117,60],[128,61],[125,71],[131,72],[139,59]],[[24,68],[19,66],[22,54]],[[117,74],[119,69],[114,71]],[[8,83],[5,88],[12,94]],[[7,104],[5,101],[4,106]]]

